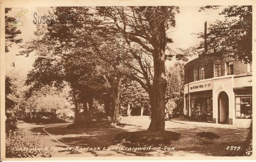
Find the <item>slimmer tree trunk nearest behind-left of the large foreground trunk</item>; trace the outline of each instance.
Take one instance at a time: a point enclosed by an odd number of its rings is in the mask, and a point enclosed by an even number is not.
[[[120,96],[120,88],[121,88],[121,77],[117,77],[116,83],[113,86],[113,116],[111,125],[116,125],[119,123],[119,111],[120,111],[120,105],[119,105],[119,96]]]

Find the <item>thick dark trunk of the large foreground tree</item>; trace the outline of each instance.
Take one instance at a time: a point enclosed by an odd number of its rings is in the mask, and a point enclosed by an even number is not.
[[[157,7],[157,11],[167,15],[166,6]],[[145,17],[149,22],[149,31],[152,34],[152,45],[154,50],[152,55],[154,58],[154,80],[153,86],[148,87],[148,94],[151,104],[151,123],[148,131],[164,131],[165,126],[165,93],[167,87],[166,71],[165,71],[165,47],[166,47],[166,17],[160,17],[157,11],[145,13]]]

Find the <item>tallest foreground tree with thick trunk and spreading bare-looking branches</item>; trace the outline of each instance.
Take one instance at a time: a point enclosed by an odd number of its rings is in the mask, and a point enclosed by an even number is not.
[[[148,92],[151,103],[151,123],[148,131],[164,131],[166,93],[166,45],[172,39],[166,31],[175,26],[175,6],[99,7],[100,16],[106,17],[105,26],[118,33],[120,41],[129,45],[122,64],[132,72],[119,72],[124,78],[137,81]]]

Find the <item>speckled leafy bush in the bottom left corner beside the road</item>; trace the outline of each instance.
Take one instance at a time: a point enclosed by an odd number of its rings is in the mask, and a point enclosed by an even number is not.
[[[16,148],[22,150],[16,151]],[[35,150],[37,148],[46,147],[39,142],[39,137],[36,135],[21,130],[10,130],[8,134],[6,133],[6,158],[51,157],[49,151]]]

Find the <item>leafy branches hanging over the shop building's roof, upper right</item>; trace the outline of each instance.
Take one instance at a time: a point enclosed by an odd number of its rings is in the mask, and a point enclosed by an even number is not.
[[[201,7],[199,11],[218,7]],[[227,54],[245,62],[252,61],[252,6],[228,6],[219,14],[224,15],[225,20],[216,20],[207,28],[207,53],[204,51],[204,41],[183,52],[197,53],[199,56]],[[204,38],[204,33],[199,33],[198,38]]]

